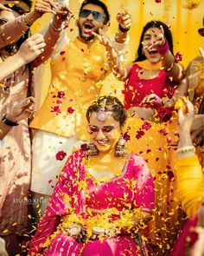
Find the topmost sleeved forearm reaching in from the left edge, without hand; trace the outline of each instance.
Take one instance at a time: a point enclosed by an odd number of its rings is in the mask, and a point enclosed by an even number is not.
[[[16,42],[23,33],[29,30],[23,16],[18,16],[14,21],[0,26],[0,48]]]

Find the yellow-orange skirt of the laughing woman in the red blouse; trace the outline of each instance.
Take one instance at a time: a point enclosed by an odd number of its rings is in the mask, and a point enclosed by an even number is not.
[[[177,232],[181,228],[183,213],[179,207],[177,196],[177,182],[169,166],[169,149],[167,144],[169,125],[148,121],[151,128],[142,129],[144,135],[137,139],[139,131],[145,121],[139,118],[129,118],[126,130],[130,135],[127,142],[129,152],[141,155],[147,160],[148,166],[155,177],[155,205],[154,220],[149,223],[149,232],[152,243],[157,248],[155,255],[168,255],[168,250],[173,246]],[[164,134],[163,134],[163,132]],[[166,254],[167,253],[167,254]]]

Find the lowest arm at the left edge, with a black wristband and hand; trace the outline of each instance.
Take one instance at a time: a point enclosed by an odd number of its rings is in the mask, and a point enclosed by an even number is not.
[[[17,103],[13,108],[10,108],[10,112],[5,115],[0,121],[0,140],[3,140],[13,126],[18,125],[17,121],[21,121],[24,118],[35,112],[35,98],[29,97],[23,99]]]

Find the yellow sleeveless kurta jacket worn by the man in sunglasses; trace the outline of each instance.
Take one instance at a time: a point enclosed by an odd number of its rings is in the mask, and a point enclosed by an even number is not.
[[[99,96],[107,74],[105,47],[97,41],[88,49],[76,38],[61,50],[51,70],[48,95],[30,127],[66,137],[76,128],[77,139],[86,140],[86,109]]]

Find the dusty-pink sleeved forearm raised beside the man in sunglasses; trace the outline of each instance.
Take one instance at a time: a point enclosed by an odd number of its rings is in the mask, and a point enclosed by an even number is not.
[[[41,63],[46,62],[48,60],[48,58],[52,55],[55,49],[58,39],[61,37],[61,33],[62,33],[62,30],[56,31],[54,30],[51,24],[49,25],[48,30],[44,36],[46,46],[44,48],[44,51],[41,53],[41,55],[35,58],[35,60],[32,62],[33,67],[37,67],[41,65]]]

